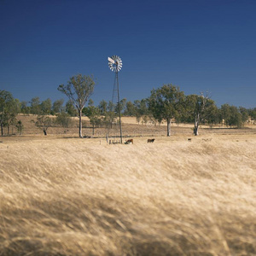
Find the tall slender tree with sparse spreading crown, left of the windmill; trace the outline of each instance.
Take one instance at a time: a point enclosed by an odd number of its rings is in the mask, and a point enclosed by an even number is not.
[[[73,103],[73,106],[77,108],[79,113],[79,137],[83,137],[82,134],[82,111],[85,103],[89,100],[93,93],[95,82],[92,76],[82,76],[78,74],[73,76],[67,85],[61,84],[58,87],[62,93],[64,93],[69,100]]]

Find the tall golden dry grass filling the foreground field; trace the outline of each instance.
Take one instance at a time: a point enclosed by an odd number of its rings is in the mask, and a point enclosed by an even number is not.
[[[252,135],[3,138],[0,255],[255,255]]]

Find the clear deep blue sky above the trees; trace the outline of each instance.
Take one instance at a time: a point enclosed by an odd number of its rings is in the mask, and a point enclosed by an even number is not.
[[[96,103],[111,100],[119,55],[127,100],[175,84],[256,107],[255,0],[0,0],[0,36],[0,90],[20,101],[66,99],[57,87],[78,73],[96,78]]]

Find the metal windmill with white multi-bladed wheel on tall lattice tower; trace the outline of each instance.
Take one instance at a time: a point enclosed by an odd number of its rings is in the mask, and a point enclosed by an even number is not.
[[[113,95],[112,95],[112,103],[114,100],[114,96],[117,94],[117,102],[119,106],[119,127],[120,127],[120,143],[122,142],[122,125],[121,125],[121,110],[120,110],[120,97],[119,97],[119,71],[123,66],[122,60],[119,56],[113,55],[108,57],[108,67],[111,71],[115,73],[114,82],[113,82]]]

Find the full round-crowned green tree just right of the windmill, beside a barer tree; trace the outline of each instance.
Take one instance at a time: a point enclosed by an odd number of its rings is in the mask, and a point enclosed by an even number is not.
[[[171,136],[171,121],[179,118],[183,113],[184,93],[172,84],[165,84],[159,89],[151,90],[148,98],[148,108],[154,118],[167,122],[167,137]]]

